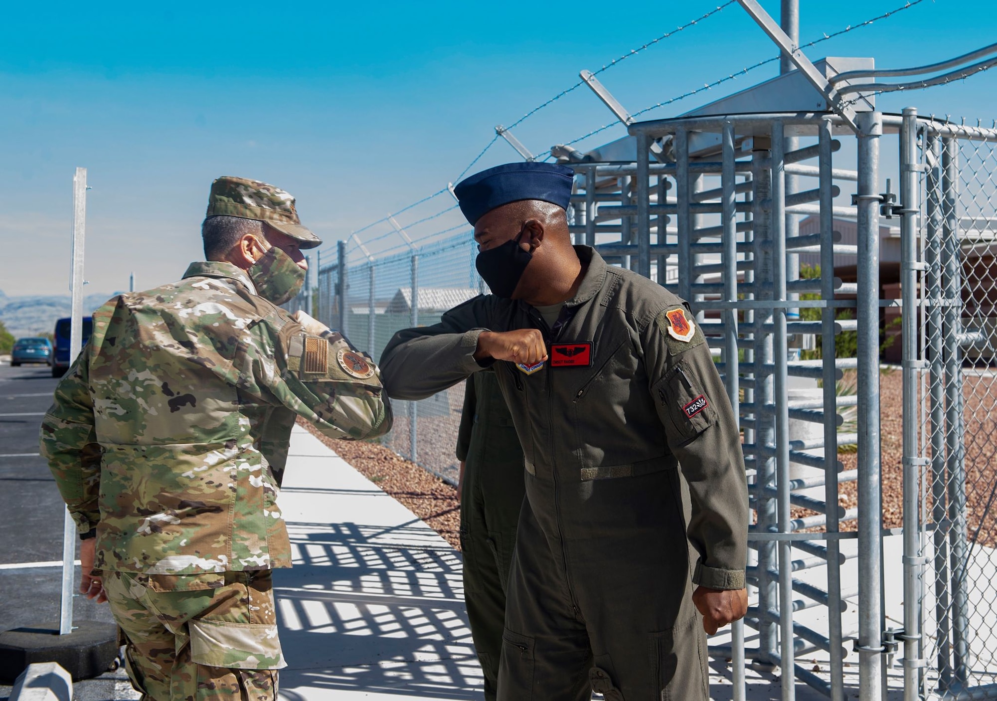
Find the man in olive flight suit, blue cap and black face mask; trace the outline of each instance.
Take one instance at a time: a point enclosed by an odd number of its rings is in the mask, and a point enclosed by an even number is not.
[[[458,184],[493,294],[395,334],[385,389],[498,375],[526,486],[499,701],[706,701],[705,633],[748,605],[737,423],[685,302],[571,245],[572,180],[519,163]]]

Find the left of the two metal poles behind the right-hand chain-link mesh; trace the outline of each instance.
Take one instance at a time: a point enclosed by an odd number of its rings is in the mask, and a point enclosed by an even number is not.
[[[925,160],[930,159],[925,177],[924,266],[927,287],[927,343],[930,364],[928,392],[931,397],[931,522],[934,524],[934,589],[935,639],[938,649],[936,669],[938,687],[947,689],[952,683],[951,620],[949,619],[948,540],[945,499],[945,368],[942,354],[942,288],[941,288],[941,141],[929,133],[924,140]]]

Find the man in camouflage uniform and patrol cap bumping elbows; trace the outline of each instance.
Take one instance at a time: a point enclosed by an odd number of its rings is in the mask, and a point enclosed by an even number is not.
[[[220,177],[202,236],[207,262],[94,313],[41,450],[83,538],[81,590],[110,600],[143,698],[269,701],[294,419],[363,439],[388,432],[391,409],[367,357],[276,306],[321,242],[291,195]]]

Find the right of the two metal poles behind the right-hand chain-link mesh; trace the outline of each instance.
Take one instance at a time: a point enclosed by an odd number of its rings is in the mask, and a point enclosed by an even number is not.
[[[969,601],[966,598],[966,471],[962,421],[962,261],[957,212],[959,145],[942,139],[942,285],[945,357],[945,458],[948,472],[948,531],[952,592],[952,669],[954,681],[965,686],[969,664]]]

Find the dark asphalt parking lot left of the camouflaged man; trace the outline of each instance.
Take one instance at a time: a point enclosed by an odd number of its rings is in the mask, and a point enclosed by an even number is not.
[[[0,630],[59,620],[65,506],[38,455],[38,430],[57,383],[47,365],[0,364]],[[106,604],[83,596],[74,599],[73,615],[113,621]],[[77,684],[74,698],[122,698],[122,679],[119,671]],[[0,699],[9,691],[0,685]]]

